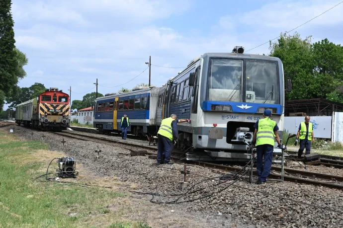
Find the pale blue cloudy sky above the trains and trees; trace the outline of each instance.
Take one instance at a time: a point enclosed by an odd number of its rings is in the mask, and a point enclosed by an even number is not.
[[[102,94],[148,83],[151,56],[162,66],[151,67],[151,83],[162,86],[203,53],[248,51],[339,2],[12,0],[15,45],[28,58],[18,85],[40,82],[67,93],[72,86],[72,100],[82,100],[95,91],[96,78]],[[343,3],[295,31],[342,44],[342,15]],[[269,54],[269,45],[247,53]]]

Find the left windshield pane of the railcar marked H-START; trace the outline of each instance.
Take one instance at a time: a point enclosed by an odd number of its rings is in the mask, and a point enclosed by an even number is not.
[[[241,102],[242,78],[242,60],[212,59],[208,99]]]

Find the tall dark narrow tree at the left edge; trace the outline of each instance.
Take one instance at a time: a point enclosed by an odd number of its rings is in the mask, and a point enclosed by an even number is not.
[[[15,59],[15,40],[11,14],[11,0],[0,1],[0,92],[4,96],[11,94],[12,86],[18,82],[16,71],[18,63]],[[1,100],[0,105],[3,105]],[[1,110],[2,110],[1,105]]]

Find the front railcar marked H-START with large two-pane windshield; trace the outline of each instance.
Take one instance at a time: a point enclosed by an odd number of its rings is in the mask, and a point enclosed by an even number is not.
[[[158,125],[172,113],[191,120],[177,124],[180,143],[192,148],[187,159],[246,160],[254,124],[265,109],[272,111],[282,139],[282,62],[262,55],[203,54],[160,89],[157,106]]]

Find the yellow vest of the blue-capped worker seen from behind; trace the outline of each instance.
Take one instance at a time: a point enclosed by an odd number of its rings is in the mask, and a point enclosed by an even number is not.
[[[276,122],[268,117],[258,120],[258,130],[256,137],[256,146],[269,144],[274,146],[274,127]]]

